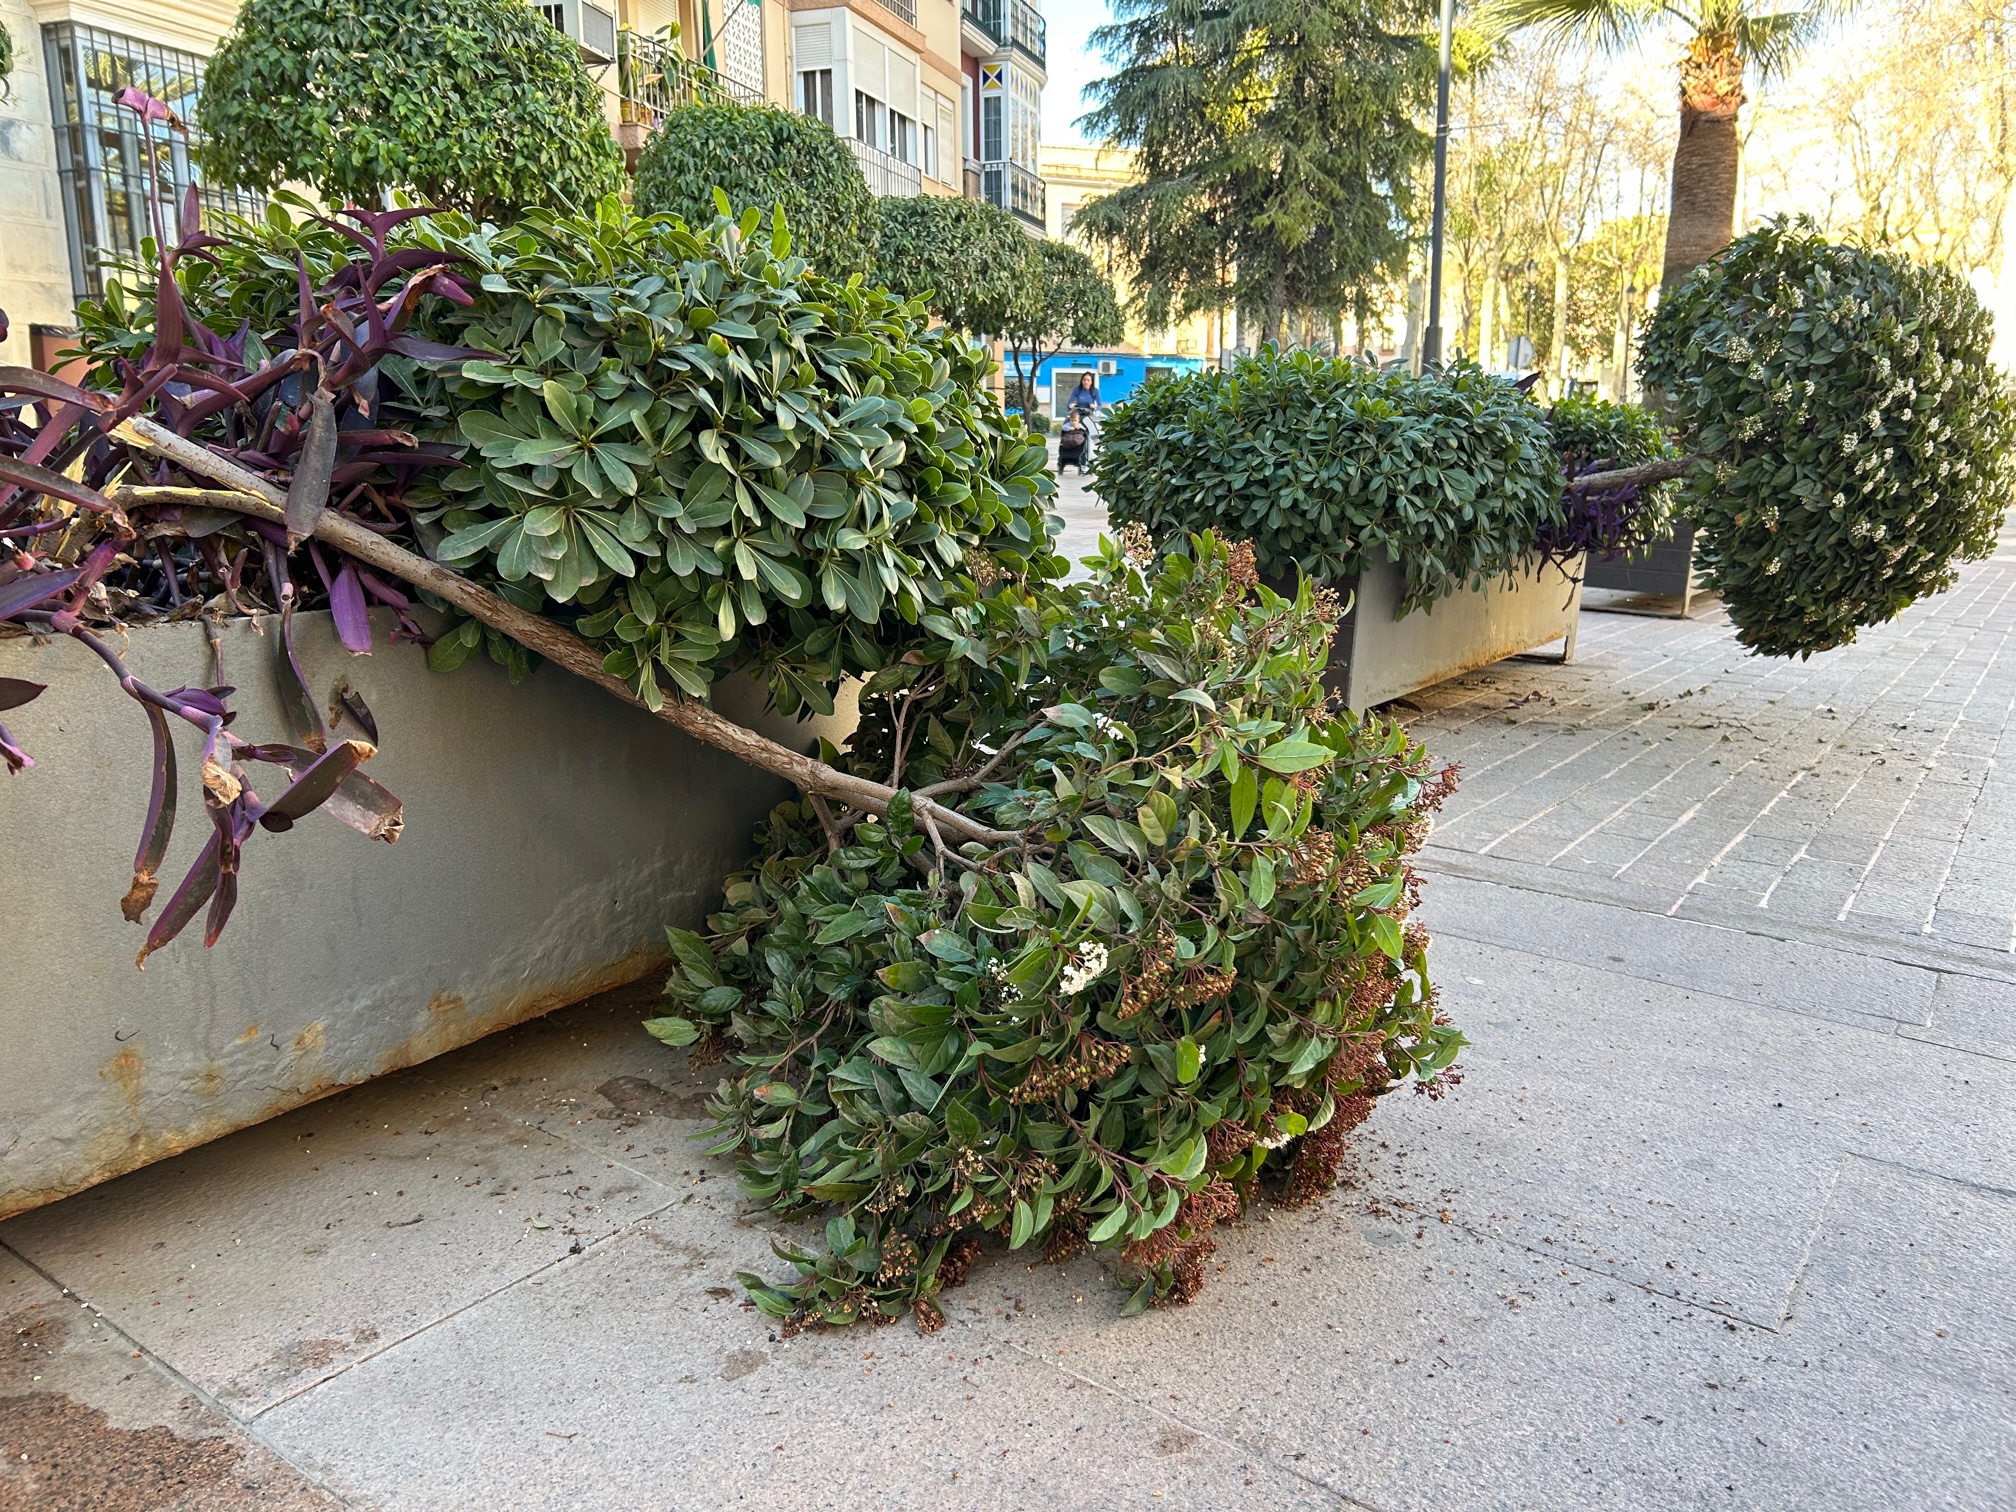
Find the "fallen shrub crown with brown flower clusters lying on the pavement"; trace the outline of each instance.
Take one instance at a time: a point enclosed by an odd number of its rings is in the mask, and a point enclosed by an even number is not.
[[[839,1210],[778,1250],[796,1280],[744,1276],[766,1312],[929,1331],[986,1234],[1187,1300],[1214,1224],[1312,1200],[1381,1093],[1454,1081],[1407,863],[1454,774],[1325,710],[1335,595],[1189,550],[982,569],[988,635],[867,683],[845,762],[1010,843],[784,804],[673,931],[651,1028],[726,1048],[714,1149],[776,1212]]]

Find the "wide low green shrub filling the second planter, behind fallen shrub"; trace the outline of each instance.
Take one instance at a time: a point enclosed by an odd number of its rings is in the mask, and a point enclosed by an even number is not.
[[[1415,379],[1266,351],[1137,391],[1107,417],[1093,472],[1115,520],[1163,544],[1206,528],[1252,540],[1268,577],[1391,556],[1409,609],[1516,569],[1560,522],[1540,411],[1474,365]]]

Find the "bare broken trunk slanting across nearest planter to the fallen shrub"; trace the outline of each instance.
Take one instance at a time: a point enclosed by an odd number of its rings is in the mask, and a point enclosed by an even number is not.
[[[210,478],[212,482],[226,486],[222,490],[175,490],[175,502],[179,504],[204,504],[208,508],[236,510],[238,514],[250,514],[272,524],[286,522],[286,494],[260,478],[256,472],[248,472],[236,462],[220,458],[210,448],[190,442],[145,415],[135,415],[133,419],[117,425],[113,429],[113,439],[123,442],[137,452],[173,462],[183,472],[192,472],[200,478]],[[105,492],[109,498],[147,502],[147,496],[155,490],[113,486]],[[474,615],[490,629],[510,635],[528,651],[538,651],[556,667],[595,683],[605,694],[621,698],[633,708],[645,708],[643,700],[637,698],[627,681],[603,671],[603,653],[564,625],[556,625],[540,615],[530,615],[524,609],[518,609],[518,605],[490,593],[490,589],[478,587],[460,573],[405,550],[405,546],[387,540],[375,530],[369,530],[357,520],[337,514],[335,510],[327,510],[317,522],[314,538],[349,556],[355,556],[367,566],[375,566],[381,573],[389,573],[391,577],[411,583],[415,589],[425,589],[466,615]],[[726,750],[736,760],[748,762],[764,772],[772,772],[786,782],[794,782],[804,792],[839,798],[853,808],[865,808],[875,814],[887,812],[889,800],[895,796],[895,788],[891,786],[853,776],[851,772],[841,772],[839,768],[827,766],[810,756],[800,756],[790,746],[782,746],[776,740],[756,734],[754,730],[746,730],[734,720],[722,718],[706,704],[694,704],[675,691],[665,694],[661,708],[647,712],[655,714],[665,724],[683,730],[694,740],[714,746],[716,750]],[[980,825],[978,821],[962,814],[958,808],[946,808],[943,804],[933,802],[929,796],[911,794],[911,802],[919,814],[935,818],[941,833],[954,837],[958,843],[1022,843],[1022,837],[1014,831]]]

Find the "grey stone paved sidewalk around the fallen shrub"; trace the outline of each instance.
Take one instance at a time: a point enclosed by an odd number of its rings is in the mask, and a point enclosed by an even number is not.
[[[778,1341],[633,990],[0,1226],[0,1508],[2006,1512],[2012,573],[1415,698],[1468,1077],[1189,1308],[998,1254]]]

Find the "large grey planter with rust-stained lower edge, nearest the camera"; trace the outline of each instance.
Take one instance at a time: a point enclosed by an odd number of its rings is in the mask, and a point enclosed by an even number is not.
[[[752,825],[790,792],[554,667],[514,687],[488,661],[433,673],[383,635],[351,657],[327,615],[298,631],[308,685],[327,698],[349,677],[377,716],[367,770],[405,802],[405,835],[367,841],[327,814],[258,833],[218,946],[198,919],[145,972],[119,895],[147,722],[75,641],[0,641],[0,675],[48,683],[10,716],[36,766],[0,780],[0,1216],[645,976],[663,927],[718,905]],[[127,661],[157,687],[214,681],[192,623],[135,631]],[[288,738],[250,623],[224,629],[224,677],[238,734]],[[750,683],[718,702],[800,750],[851,728],[851,710],[762,718]],[[183,736],[155,909],[208,835]],[[274,780],[252,774],[262,792]]]

